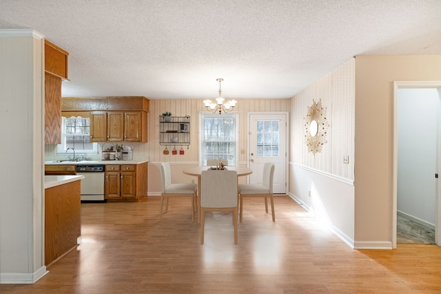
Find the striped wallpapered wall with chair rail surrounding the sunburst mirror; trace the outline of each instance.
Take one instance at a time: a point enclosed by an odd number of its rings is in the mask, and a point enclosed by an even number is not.
[[[327,107],[329,132],[322,152],[313,156],[305,145],[304,118],[307,107],[320,99]],[[340,65],[291,101],[289,195],[353,246],[355,60]],[[343,163],[343,156],[349,156],[349,164]]]

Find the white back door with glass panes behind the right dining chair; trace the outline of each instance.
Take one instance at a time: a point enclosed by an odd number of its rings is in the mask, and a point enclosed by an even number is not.
[[[287,112],[249,112],[247,166],[249,182],[262,182],[265,162],[275,165],[273,193],[287,193]],[[265,126],[265,127],[263,127]],[[259,128],[259,129],[258,129]]]

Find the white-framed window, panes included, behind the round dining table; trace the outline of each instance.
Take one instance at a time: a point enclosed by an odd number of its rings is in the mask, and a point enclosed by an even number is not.
[[[238,165],[238,115],[199,114],[199,161],[207,165],[209,159],[227,159],[228,165]]]

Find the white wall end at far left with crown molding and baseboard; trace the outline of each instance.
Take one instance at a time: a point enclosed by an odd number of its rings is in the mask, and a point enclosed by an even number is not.
[[[0,52],[0,283],[32,283],[46,273],[43,36],[0,30]]]

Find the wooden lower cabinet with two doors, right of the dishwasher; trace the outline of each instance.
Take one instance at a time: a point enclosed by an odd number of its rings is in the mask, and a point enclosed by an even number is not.
[[[104,185],[107,201],[139,201],[147,196],[147,162],[106,165]]]

